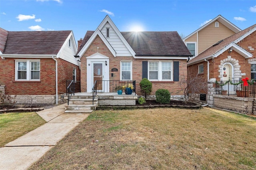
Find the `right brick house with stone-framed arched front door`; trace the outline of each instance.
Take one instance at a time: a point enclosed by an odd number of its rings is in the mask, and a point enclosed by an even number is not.
[[[256,24],[218,41],[188,61],[188,77],[202,80],[256,79]],[[228,88],[231,89],[231,88]]]

